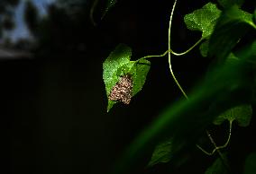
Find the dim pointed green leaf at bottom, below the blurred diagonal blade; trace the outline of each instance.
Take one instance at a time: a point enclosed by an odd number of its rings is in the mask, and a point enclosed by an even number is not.
[[[171,159],[172,151],[173,149],[171,140],[158,144],[151,156],[151,161],[149,162],[148,167],[151,167],[160,162],[169,162]]]

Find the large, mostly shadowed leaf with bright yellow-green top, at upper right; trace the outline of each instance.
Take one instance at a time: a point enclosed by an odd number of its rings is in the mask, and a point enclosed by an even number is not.
[[[221,15],[215,25],[209,44],[209,56],[224,60],[238,41],[253,28],[256,29],[256,26],[252,22],[251,13],[234,5]]]

